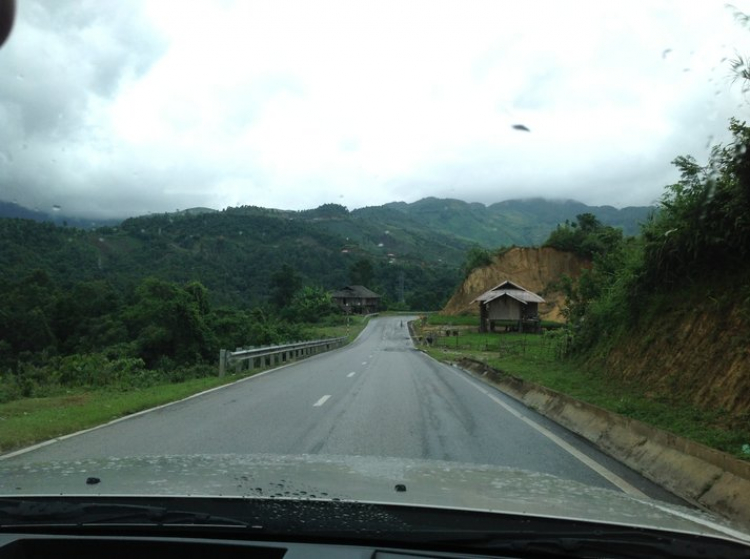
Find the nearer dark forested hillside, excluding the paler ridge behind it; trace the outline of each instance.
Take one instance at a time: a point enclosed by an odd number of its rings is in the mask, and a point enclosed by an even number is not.
[[[345,217],[326,206],[310,212],[248,207],[145,216],[93,231],[0,219],[0,279],[40,269],[63,289],[106,280],[121,291],[148,276],[179,284],[199,280],[212,304],[247,308],[270,299],[270,278],[283,265],[298,272],[302,284],[331,290],[349,283],[349,269],[366,260],[372,268],[367,286],[386,304],[403,293],[411,308],[436,309],[451,295],[467,245],[453,240],[449,246],[396,225],[365,227],[336,208]],[[350,229],[370,240],[357,240]]]

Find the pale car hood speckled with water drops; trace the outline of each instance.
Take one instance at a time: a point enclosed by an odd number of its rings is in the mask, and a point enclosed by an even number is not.
[[[323,455],[140,456],[0,466],[0,496],[184,496],[413,505],[724,535],[698,510],[497,466]]]

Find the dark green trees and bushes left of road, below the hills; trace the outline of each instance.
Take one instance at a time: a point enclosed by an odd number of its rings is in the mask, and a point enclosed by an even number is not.
[[[36,270],[0,283],[0,401],[60,386],[132,388],[212,374],[220,347],[302,339],[299,321],[263,309],[212,308],[199,282],[146,278],[122,292],[106,280],[63,289]],[[284,307],[331,313],[313,288]]]

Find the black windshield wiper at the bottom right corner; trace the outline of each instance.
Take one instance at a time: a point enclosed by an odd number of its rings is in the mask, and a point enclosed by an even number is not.
[[[642,530],[595,530],[590,533],[540,531],[523,533],[436,534],[430,543],[468,546],[549,557],[746,557],[742,544],[703,535],[644,532]]]

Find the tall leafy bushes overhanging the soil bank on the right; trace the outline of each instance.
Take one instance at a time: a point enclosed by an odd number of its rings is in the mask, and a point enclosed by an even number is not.
[[[705,166],[675,159],[681,179],[666,188],[660,211],[639,237],[623,239],[592,216],[552,233],[548,244],[594,257],[591,270],[566,284],[575,352],[610,347],[618,334],[656,318],[664,296],[695,286],[750,310],[750,291],[740,279],[750,261],[750,128],[732,120],[730,130],[733,141],[715,147]],[[727,277],[738,292],[710,289]]]

